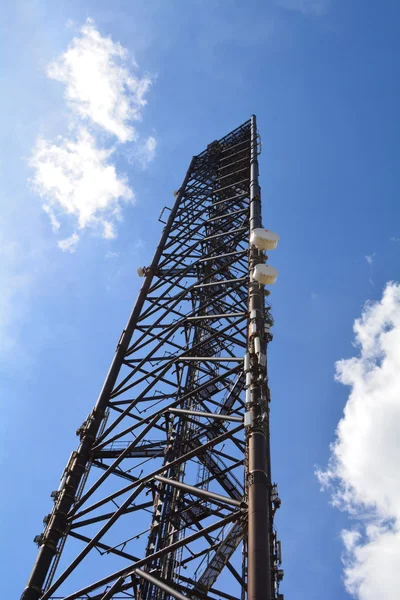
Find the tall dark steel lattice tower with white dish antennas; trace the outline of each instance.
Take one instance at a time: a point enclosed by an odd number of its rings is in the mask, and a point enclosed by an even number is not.
[[[259,148],[253,116],[192,159],[23,600],[283,599]]]

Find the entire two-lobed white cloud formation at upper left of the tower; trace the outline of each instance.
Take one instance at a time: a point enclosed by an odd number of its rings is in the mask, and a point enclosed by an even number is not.
[[[117,235],[123,203],[132,203],[134,193],[112,161],[115,144],[130,142],[128,151],[142,165],[153,160],[157,144],[154,137],[140,140],[134,126],[151,85],[151,78],[139,77],[136,70],[128,51],[102,36],[91,19],[47,69],[50,78],[65,85],[69,134],[39,137],[30,166],[31,183],[56,233],[66,217],[79,232],[89,227],[106,239]],[[104,135],[114,145],[106,144]],[[58,247],[74,252],[78,240],[75,231]]]

